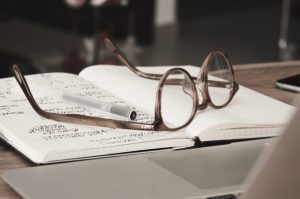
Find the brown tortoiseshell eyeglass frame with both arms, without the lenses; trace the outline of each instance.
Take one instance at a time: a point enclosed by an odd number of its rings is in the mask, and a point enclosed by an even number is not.
[[[221,56],[224,56],[228,64],[230,64],[229,60],[225,56],[224,53],[221,51],[214,51],[210,53],[206,60],[203,63],[202,66],[202,72],[199,73],[198,77],[192,77],[185,69],[183,68],[172,68],[168,71],[166,71],[164,74],[150,74],[150,73],[144,73],[140,70],[138,70],[134,65],[132,65],[128,59],[124,56],[124,54],[117,48],[115,44],[113,44],[109,39],[105,39],[105,44],[109,47],[109,49],[123,62],[125,65],[132,70],[137,75],[152,79],[152,80],[159,80],[158,87],[156,91],[156,99],[155,99],[155,114],[154,114],[154,121],[152,124],[147,123],[140,123],[135,121],[123,121],[123,120],[115,120],[115,119],[107,119],[107,118],[99,118],[94,116],[85,116],[85,115],[79,115],[79,114],[60,114],[60,113],[53,113],[53,112],[47,112],[44,111],[38,103],[35,101],[34,96],[32,95],[30,88],[28,86],[28,83],[22,74],[21,70],[17,65],[13,65],[13,74],[20,85],[23,93],[25,94],[27,100],[29,101],[32,108],[42,117],[55,120],[58,122],[67,122],[67,123],[75,123],[75,124],[82,124],[82,125],[93,125],[93,126],[100,126],[100,127],[109,127],[109,128],[121,128],[121,129],[132,129],[132,130],[148,130],[148,131],[176,131],[179,129],[182,129],[186,127],[193,118],[196,115],[196,112],[198,110],[205,109],[208,106],[212,106],[214,108],[222,108],[226,106],[233,98],[235,93],[237,92],[239,85],[238,83],[233,79],[233,82],[223,82],[223,81],[212,81],[208,80],[207,75],[207,65],[211,61],[212,56],[214,56],[215,53],[219,53]],[[232,66],[231,72],[234,78],[234,73]],[[182,74],[183,79],[168,79],[168,77],[172,74]],[[197,84],[195,84],[196,82]],[[188,90],[185,90],[185,86],[183,84],[188,84],[189,88]],[[228,98],[227,102],[225,104],[222,104],[221,106],[217,106],[213,104],[213,102],[210,99],[209,92],[208,92],[208,84],[210,86],[215,87],[226,87],[230,88],[230,97]],[[162,112],[161,112],[161,98],[162,98],[162,90],[165,85],[182,85],[183,90],[185,93],[191,96],[193,100],[193,109],[192,113],[190,115],[190,118],[183,123],[182,125],[178,127],[169,127],[166,125],[166,123],[163,120]],[[196,88],[200,86],[200,88]],[[203,102],[199,104],[199,98],[198,98],[198,91],[201,92],[201,95],[203,96]]]

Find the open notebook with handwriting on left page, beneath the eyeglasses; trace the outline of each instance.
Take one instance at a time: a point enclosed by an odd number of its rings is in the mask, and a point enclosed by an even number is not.
[[[199,68],[184,66],[197,75]],[[162,73],[168,67],[144,67]],[[158,81],[133,74],[126,67],[91,66],[79,75],[46,73],[27,76],[38,104],[47,111],[110,118],[103,112],[63,100],[65,92],[131,107],[137,121],[151,122]],[[31,108],[14,78],[0,80],[0,136],[35,163],[52,163],[152,149],[185,148],[202,142],[276,136],[294,108],[241,87],[223,109],[199,111],[192,123],[178,132],[111,129],[56,122]],[[175,97],[175,96],[174,96]],[[175,107],[176,112],[185,107]],[[169,113],[168,123],[180,122]]]

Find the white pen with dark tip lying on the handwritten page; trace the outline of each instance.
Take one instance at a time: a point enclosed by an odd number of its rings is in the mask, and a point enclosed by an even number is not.
[[[108,112],[119,117],[126,118],[128,120],[134,120],[136,118],[136,112],[128,107],[119,106],[116,104],[110,104],[106,102],[101,102],[96,99],[82,97],[72,93],[64,93],[62,98],[79,104],[83,104],[101,111]]]

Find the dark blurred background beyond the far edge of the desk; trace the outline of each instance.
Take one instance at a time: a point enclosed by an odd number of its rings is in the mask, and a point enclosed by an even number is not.
[[[2,0],[0,76],[120,64],[105,37],[136,65],[201,66],[214,49],[233,64],[295,60],[300,1]]]

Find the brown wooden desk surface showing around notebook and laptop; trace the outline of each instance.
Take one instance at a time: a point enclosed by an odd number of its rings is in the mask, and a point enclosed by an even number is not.
[[[235,65],[234,69],[241,85],[282,102],[292,103],[296,93],[276,88],[275,82],[279,78],[300,73],[300,61]],[[0,140],[0,172],[29,166],[33,164]],[[0,178],[0,198],[20,197]]]

